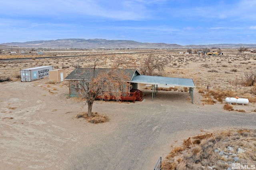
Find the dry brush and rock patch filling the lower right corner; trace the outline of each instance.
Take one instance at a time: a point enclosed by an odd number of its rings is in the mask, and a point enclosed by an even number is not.
[[[255,164],[256,130],[231,129],[213,137],[184,140],[162,161],[162,170],[231,169],[232,163]],[[217,142],[216,142],[217,141]]]

